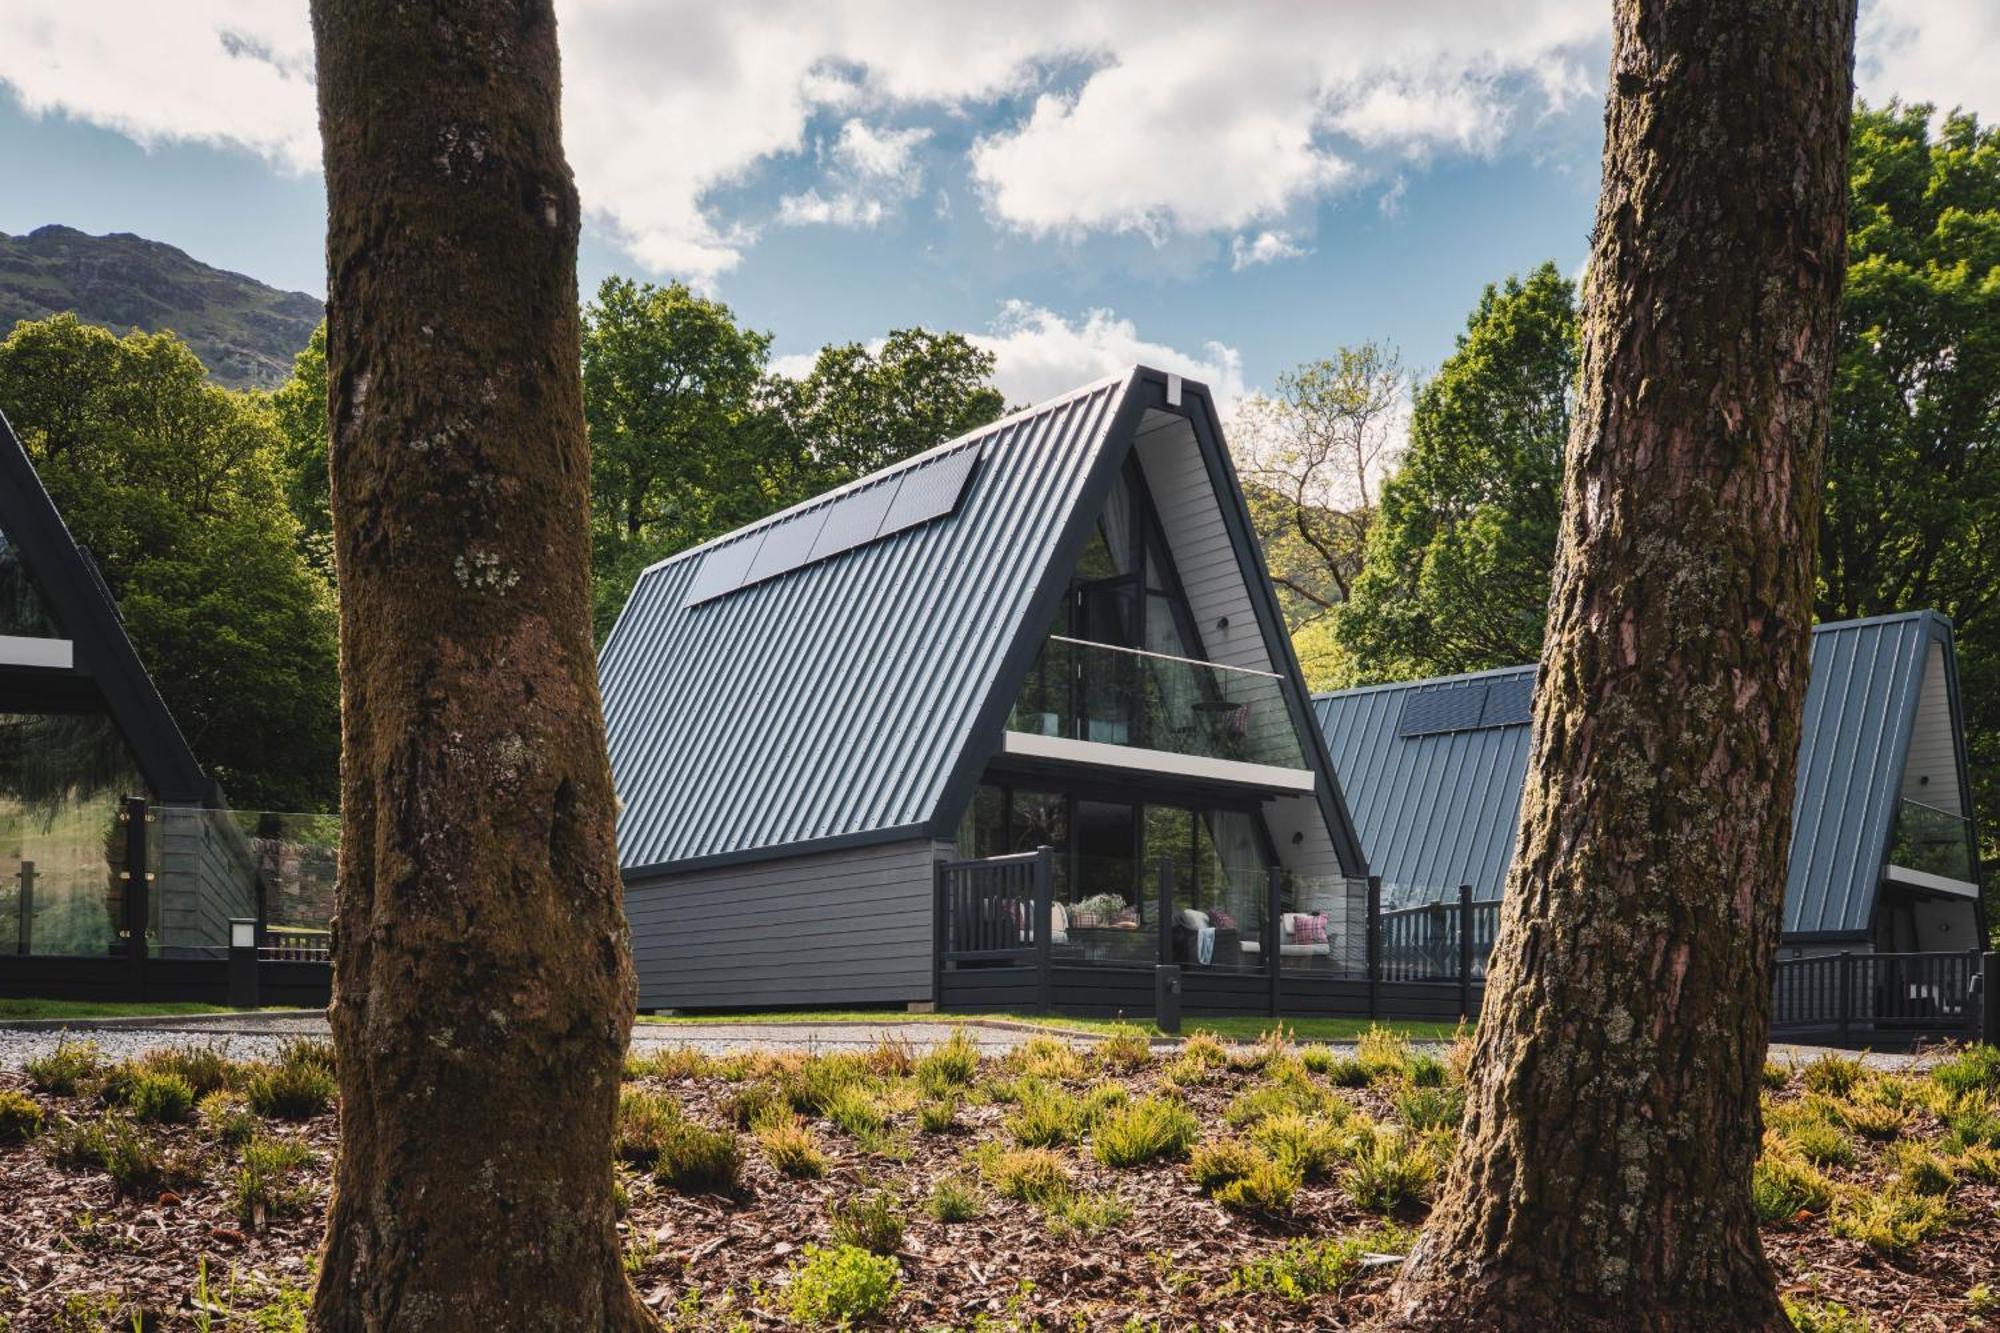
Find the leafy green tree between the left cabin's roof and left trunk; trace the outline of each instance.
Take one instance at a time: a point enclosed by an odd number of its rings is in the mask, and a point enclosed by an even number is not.
[[[0,410],[210,777],[242,807],[330,805],[334,606],[300,554],[272,406],[210,382],[172,334],[62,314],[0,342]]]

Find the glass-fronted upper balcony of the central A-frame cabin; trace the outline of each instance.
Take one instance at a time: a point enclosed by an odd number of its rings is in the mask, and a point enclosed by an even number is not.
[[[1228,765],[1306,769],[1278,675],[1062,634],[1042,644],[1008,731]]]

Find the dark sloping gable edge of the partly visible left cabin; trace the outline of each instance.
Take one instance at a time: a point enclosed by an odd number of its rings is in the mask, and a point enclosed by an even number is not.
[[[214,783],[188,751],[102,578],[70,536],[6,416],[0,416],[0,532],[30,576],[48,628],[60,628],[10,640],[14,650],[0,662],[10,695],[36,709],[100,699],[156,799],[216,805]]]

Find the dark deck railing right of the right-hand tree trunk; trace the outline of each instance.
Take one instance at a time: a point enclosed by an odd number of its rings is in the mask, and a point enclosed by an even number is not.
[[[1980,1031],[1982,963],[1964,953],[1828,953],[1780,959],[1772,1033]]]

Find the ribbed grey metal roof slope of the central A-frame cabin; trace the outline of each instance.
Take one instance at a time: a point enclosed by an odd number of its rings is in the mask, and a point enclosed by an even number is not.
[[[928,825],[1010,644],[1042,628],[1030,604],[1132,382],[906,464],[938,468],[926,504],[950,516],[692,606],[698,572],[786,518],[648,568],[598,656],[628,877]]]

